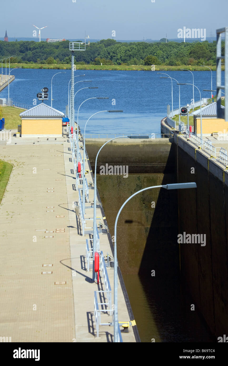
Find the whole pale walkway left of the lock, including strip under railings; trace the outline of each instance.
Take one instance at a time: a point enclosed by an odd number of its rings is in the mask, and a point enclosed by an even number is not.
[[[86,272],[89,235],[81,235],[75,214],[69,140],[12,137],[0,145],[0,159],[14,164],[0,206],[0,336],[11,336],[12,342],[112,342],[113,326],[100,326],[99,337],[94,329],[94,291],[104,290],[104,279],[98,286]],[[86,177],[92,181],[90,171]],[[89,190],[88,218],[93,194]],[[97,217],[102,217],[98,208]],[[112,254],[107,234],[100,234],[100,250]],[[113,291],[113,269],[107,270]],[[119,321],[133,320],[120,285],[118,310]],[[101,314],[101,321],[111,322],[112,316]],[[135,342],[132,327],[122,337]]]

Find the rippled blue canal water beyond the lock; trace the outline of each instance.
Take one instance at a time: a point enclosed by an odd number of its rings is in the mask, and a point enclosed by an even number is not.
[[[10,98],[14,102],[23,102],[33,106],[37,104],[37,93],[42,87],[48,87],[51,105],[51,78],[56,72],[64,70],[17,69],[11,72],[15,80],[10,83]],[[5,69],[3,71],[5,73]],[[161,71],[162,72],[162,71]],[[193,83],[189,71],[163,71],[178,82]],[[8,69],[7,69],[8,73]],[[114,70],[78,70],[75,92],[81,88],[98,86],[99,89],[83,89],[75,96],[75,119],[79,105],[91,97],[109,97],[109,100],[91,99],[80,108],[79,126],[81,130],[86,120],[95,112],[109,109],[123,109],[123,113],[99,113],[92,117],[86,127],[86,133],[160,133],[160,121],[166,115],[167,104],[172,106],[171,79],[160,79],[156,71],[114,71]],[[201,91],[201,97],[210,97],[210,92],[203,89],[211,88],[210,71],[193,71],[194,84]],[[224,72],[222,72],[222,82]],[[216,72],[213,75],[213,89],[216,89]],[[52,81],[52,107],[65,113],[68,104],[68,82],[71,70],[66,74],[57,74]],[[191,85],[180,86],[181,106],[193,98]],[[215,93],[214,93],[215,94]],[[0,98],[8,98],[8,87],[0,92]],[[194,90],[195,101],[199,100],[199,92]],[[179,86],[173,81],[173,108],[179,107]]]

